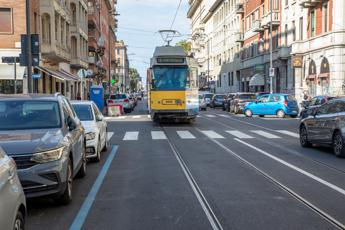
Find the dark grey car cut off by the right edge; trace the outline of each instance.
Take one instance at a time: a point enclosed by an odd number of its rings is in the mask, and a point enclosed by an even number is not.
[[[345,157],[344,124],[345,99],[334,99],[321,105],[300,122],[301,146],[329,145],[337,157]]]

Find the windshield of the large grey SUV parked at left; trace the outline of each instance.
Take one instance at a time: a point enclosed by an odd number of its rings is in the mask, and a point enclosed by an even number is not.
[[[54,101],[0,101],[0,130],[61,127],[59,104]]]

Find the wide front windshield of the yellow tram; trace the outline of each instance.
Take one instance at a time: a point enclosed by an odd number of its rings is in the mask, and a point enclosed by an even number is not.
[[[154,89],[183,90],[189,87],[189,70],[187,67],[154,67]]]

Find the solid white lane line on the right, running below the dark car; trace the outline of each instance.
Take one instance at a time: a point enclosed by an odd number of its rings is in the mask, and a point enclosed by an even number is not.
[[[315,176],[314,174],[311,174],[311,173],[309,173],[309,172],[307,172],[307,171],[305,171],[305,170],[303,170],[303,169],[301,169],[301,168],[299,168],[293,164],[290,164],[290,163],[280,159],[279,157],[273,156],[273,155],[269,154],[268,152],[266,152],[262,149],[259,149],[255,146],[251,145],[251,144],[248,144],[248,143],[246,143],[240,139],[235,138],[235,140],[248,146],[249,148],[254,149],[254,150],[258,151],[259,153],[261,153],[261,154],[263,154],[263,155],[265,155],[265,156],[267,156],[267,157],[269,157],[269,158],[271,158],[271,159],[273,159],[273,160],[275,160],[275,161],[277,161],[277,162],[279,162],[279,163],[281,163],[281,164],[283,164],[283,165],[285,165],[285,166],[287,166],[287,167],[289,167],[289,168],[291,168],[291,169],[293,169],[293,170],[295,170],[295,171],[297,171],[297,172],[299,172],[299,173],[301,173],[301,174],[303,174],[303,175],[305,175],[305,176],[333,189],[334,191],[339,192],[340,194],[345,196],[345,190],[344,189],[342,189],[342,188],[340,188],[340,187],[338,187],[338,186],[336,186],[336,185],[334,185],[328,181],[325,181],[325,180],[321,179],[320,177]]]

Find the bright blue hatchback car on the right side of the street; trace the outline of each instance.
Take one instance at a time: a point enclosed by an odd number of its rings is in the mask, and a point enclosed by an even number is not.
[[[297,117],[299,108],[294,96],[289,94],[265,94],[257,98],[254,102],[248,103],[243,112],[247,117],[253,115],[277,115],[280,118],[289,115]]]

